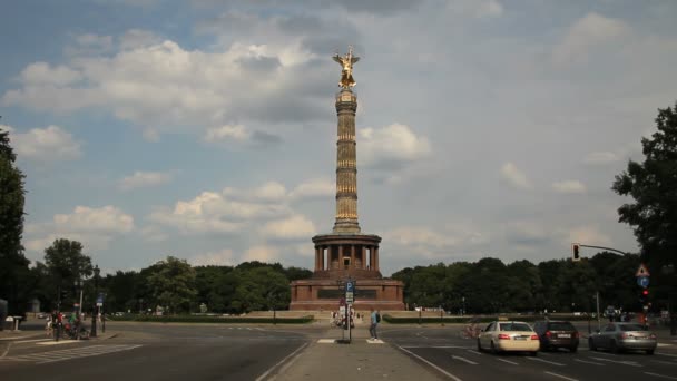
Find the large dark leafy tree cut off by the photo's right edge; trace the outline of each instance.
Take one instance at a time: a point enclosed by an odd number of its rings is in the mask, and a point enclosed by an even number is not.
[[[657,273],[677,266],[677,102],[655,120],[658,131],[641,139],[644,163],[630,160],[611,189],[635,199],[618,208],[619,222],[634,227],[642,260]]]

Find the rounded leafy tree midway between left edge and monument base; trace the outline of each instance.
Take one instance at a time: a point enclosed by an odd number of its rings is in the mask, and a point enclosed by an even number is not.
[[[154,265],[147,281],[155,301],[171,313],[189,312],[196,302],[195,270],[186,260],[167,256]]]

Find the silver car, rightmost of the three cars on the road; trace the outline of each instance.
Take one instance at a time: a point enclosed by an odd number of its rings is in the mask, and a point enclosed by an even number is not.
[[[618,353],[632,350],[654,354],[657,345],[656,334],[650,332],[646,325],[638,323],[609,323],[601,331],[588,338],[588,346],[591,351],[607,349],[612,353]]]

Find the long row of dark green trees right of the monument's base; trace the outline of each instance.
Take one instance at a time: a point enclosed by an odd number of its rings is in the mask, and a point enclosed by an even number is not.
[[[467,313],[588,312],[615,305],[639,311],[636,254],[602,252],[581,262],[552,260],[533,264],[498,258],[475,263],[457,262],[408,267],[393,274],[404,282],[404,301],[410,306],[436,307]],[[657,305],[656,307],[659,307]]]

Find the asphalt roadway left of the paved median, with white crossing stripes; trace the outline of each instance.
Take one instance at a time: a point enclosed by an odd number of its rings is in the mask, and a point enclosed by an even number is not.
[[[312,330],[253,325],[118,323],[108,331],[119,334],[81,342],[16,340],[0,358],[2,380],[256,380],[313,336]]]

